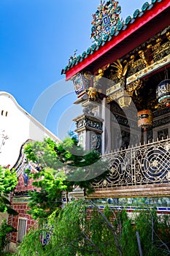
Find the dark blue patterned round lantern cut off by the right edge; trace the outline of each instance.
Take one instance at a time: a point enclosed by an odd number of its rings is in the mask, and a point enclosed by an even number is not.
[[[165,79],[158,84],[156,97],[161,105],[170,107],[170,79]]]

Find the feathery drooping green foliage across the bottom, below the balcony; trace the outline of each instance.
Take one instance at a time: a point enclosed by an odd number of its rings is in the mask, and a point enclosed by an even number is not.
[[[18,255],[139,256],[136,230],[144,256],[169,255],[169,220],[158,217],[155,211],[141,211],[131,219],[124,210],[106,207],[101,211],[89,201],[74,201],[64,206],[57,218],[53,212],[46,229],[31,230]],[[50,233],[45,247],[39,239],[42,233]]]

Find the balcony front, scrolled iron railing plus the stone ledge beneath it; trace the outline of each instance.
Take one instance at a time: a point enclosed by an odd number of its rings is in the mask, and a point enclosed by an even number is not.
[[[109,177],[93,183],[90,197],[170,195],[170,139],[104,155]]]

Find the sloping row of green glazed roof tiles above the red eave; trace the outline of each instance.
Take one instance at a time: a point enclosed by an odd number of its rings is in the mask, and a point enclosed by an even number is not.
[[[88,58],[88,56],[92,55],[99,48],[102,48],[102,46],[104,46],[105,43],[110,41],[113,37],[117,37],[117,35],[120,34],[120,31],[127,29],[130,24],[136,21],[137,18],[142,17],[145,12],[151,10],[155,4],[161,1],[163,0],[152,0],[151,4],[149,4],[147,1],[144,2],[144,4],[142,5],[142,10],[136,9],[132,16],[128,15],[125,20],[120,21],[118,26],[112,26],[109,33],[102,34],[102,36],[98,39],[98,42],[93,42],[93,44],[90,45],[87,50],[84,50],[81,55],[76,56],[74,53],[74,56],[69,59],[69,64],[67,64],[66,67],[61,70],[61,75],[66,74],[69,69],[72,69],[72,67],[75,67],[81,61]]]

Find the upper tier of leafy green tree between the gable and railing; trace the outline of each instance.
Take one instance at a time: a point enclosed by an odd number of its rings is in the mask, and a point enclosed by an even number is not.
[[[97,151],[85,153],[77,146],[75,137],[66,138],[61,143],[55,143],[50,138],[46,138],[44,142],[29,143],[26,145],[25,153],[28,159],[42,168],[66,170],[66,180],[80,187],[88,188],[93,178],[102,175],[108,169],[107,162],[101,161]]]

